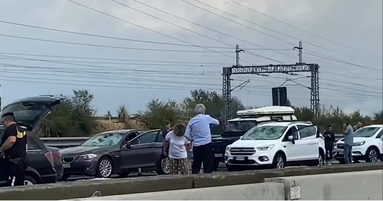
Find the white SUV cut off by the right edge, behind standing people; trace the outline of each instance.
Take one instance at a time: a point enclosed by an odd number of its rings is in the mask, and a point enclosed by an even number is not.
[[[354,132],[354,145],[352,146],[352,158],[354,160],[365,160],[376,162],[382,160],[383,153],[383,125],[370,125],[362,127]],[[334,158],[339,163],[344,163],[343,156],[344,138],[336,142],[334,147]]]

